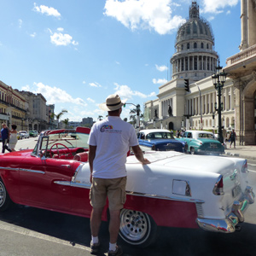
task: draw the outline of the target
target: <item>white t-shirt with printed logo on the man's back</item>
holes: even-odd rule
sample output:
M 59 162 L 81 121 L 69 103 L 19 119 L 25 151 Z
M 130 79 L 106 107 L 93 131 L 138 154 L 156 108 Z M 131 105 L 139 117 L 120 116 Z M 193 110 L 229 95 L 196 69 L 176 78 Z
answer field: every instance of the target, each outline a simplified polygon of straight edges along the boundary
M 116 116 L 108 116 L 94 124 L 88 140 L 96 146 L 93 161 L 93 177 L 125 177 L 125 162 L 130 147 L 137 146 L 137 134 L 133 126 Z

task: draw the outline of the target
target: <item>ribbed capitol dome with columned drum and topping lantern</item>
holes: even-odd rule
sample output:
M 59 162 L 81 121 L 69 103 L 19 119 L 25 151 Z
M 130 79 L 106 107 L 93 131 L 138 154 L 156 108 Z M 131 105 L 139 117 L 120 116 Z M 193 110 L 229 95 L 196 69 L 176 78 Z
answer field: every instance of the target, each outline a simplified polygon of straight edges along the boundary
M 176 53 L 170 60 L 172 79 L 205 79 L 215 72 L 218 54 L 214 48 L 212 28 L 199 15 L 199 6 L 193 1 L 189 8 L 189 20 L 177 31 Z M 190 84 L 190 83 L 189 83 Z

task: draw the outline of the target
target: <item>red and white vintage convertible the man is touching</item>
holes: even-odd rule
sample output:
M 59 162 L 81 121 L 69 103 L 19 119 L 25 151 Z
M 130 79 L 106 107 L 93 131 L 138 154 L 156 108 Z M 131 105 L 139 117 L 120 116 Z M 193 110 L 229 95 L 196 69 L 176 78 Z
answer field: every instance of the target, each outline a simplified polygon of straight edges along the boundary
M 0 154 L 0 210 L 13 201 L 90 218 L 89 132 L 45 131 L 34 149 Z M 254 202 L 247 160 L 175 151 L 148 151 L 146 158 L 151 164 L 134 155 L 126 162 L 119 235 L 130 245 L 148 246 L 160 226 L 235 232 Z

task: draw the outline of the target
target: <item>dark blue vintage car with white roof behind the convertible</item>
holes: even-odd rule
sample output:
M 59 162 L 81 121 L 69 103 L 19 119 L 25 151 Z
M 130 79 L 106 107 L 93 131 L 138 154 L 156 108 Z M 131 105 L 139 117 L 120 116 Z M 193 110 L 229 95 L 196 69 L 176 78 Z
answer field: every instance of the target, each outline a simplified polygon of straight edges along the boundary
M 140 147 L 143 151 L 186 151 L 186 143 L 177 141 L 171 131 L 164 129 L 148 129 L 137 133 Z

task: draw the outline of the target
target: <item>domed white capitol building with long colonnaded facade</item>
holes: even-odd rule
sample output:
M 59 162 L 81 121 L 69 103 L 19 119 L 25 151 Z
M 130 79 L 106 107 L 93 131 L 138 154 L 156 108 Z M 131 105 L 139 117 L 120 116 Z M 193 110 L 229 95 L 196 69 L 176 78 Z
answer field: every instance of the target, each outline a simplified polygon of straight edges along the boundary
M 214 36 L 207 20 L 200 16 L 196 2 L 189 8 L 189 20 L 177 31 L 176 52 L 170 60 L 172 80 L 159 87 L 158 99 L 145 102 L 144 124 L 148 128 L 179 130 L 217 130 L 217 90 L 212 84 L 218 54 Z M 185 80 L 189 80 L 189 91 Z M 225 129 L 235 127 L 235 92 L 231 79 L 222 91 L 222 122 Z

